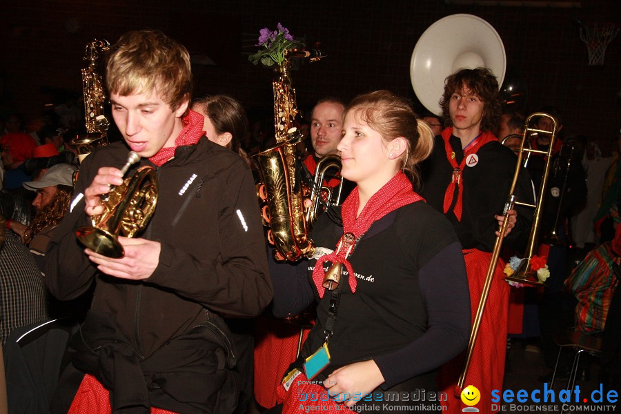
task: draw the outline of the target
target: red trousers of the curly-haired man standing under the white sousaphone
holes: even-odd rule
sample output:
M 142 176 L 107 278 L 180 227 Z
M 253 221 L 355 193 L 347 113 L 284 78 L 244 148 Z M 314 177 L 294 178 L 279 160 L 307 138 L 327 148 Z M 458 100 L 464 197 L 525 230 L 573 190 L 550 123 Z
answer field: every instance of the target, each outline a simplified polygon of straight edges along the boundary
M 480 250 L 464 250 L 468 284 L 470 286 L 470 303 L 474 320 L 483 291 L 491 253 Z M 491 410 L 491 392 L 502 392 L 504 378 L 504 357 L 506 356 L 507 313 L 509 308 L 509 284 L 504 281 L 504 262 L 498 260 L 489 290 L 489 297 L 483 311 L 479 333 L 475 342 L 464 388 L 475 386 L 481 395 L 475 408 L 480 413 L 493 413 Z M 442 366 L 438 372 L 438 388 L 448 395 L 445 411 L 462 413 L 466 405 L 460 397 L 454 396 L 462 368 L 465 352 Z

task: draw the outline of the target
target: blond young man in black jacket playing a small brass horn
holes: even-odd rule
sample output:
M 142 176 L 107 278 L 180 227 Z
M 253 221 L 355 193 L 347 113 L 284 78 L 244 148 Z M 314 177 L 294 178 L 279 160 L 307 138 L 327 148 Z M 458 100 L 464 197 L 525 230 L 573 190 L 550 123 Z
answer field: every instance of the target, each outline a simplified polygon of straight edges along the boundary
M 257 315 L 272 295 L 253 177 L 239 156 L 203 136 L 203 117 L 188 110 L 186 48 L 161 32 L 129 32 L 106 72 L 124 142 L 83 161 L 77 197 L 48 249 L 46 284 L 57 298 L 95 283 L 55 411 L 230 413 L 235 352 L 219 313 Z M 101 195 L 123 184 L 129 150 L 157 171 L 157 208 L 139 237 L 118 237 L 125 255 L 112 259 L 80 246 L 75 230 L 103 213 Z

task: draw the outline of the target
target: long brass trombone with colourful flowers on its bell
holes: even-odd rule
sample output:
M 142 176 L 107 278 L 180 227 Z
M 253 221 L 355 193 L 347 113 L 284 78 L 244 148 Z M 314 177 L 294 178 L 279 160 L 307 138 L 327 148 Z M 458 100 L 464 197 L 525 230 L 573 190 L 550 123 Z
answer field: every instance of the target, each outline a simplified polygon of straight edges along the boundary
M 551 131 L 540 130 L 537 128 L 531 128 L 531 120 L 535 118 L 545 117 L 551 119 L 553 128 Z M 522 263 L 520 264 L 520 268 L 518 268 L 515 273 L 511 277 L 505 277 L 506 280 L 511 280 L 513 282 L 518 282 L 520 284 L 526 284 L 530 286 L 540 285 L 537 275 L 535 271 L 531 270 L 531 257 L 533 257 L 533 253 L 535 253 L 535 247 L 537 244 L 537 239 L 539 235 L 540 228 L 540 219 L 542 213 L 542 201 L 544 199 L 544 195 L 546 193 L 546 186 L 548 181 L 548 175 L 550 170 L 550 159 L 552 155 L 552 149 L 554 148 L 554 140 L 556 138 L 557 131 L 557 121 L 556 119 L 548 115 L 544 112 L 535 112 L 534 114 L 529 115 L 524 121 L 524 132 L 522 133 L 522 143 L 520 144 L 520 152 L 517 153 L 517 164 L 515 166 L 515 173 L 513 174 L 513 181 L 511 182 L 511 190 L 509 191 L 509 197 L 507 197 L 506 203 L 504 204 L 504 220 L 502 221 L 502 226 L 500 226 L 500 236 L 496 237 L 496 241 L 494 243 L 494 248 L 492 250 L 491 260 L 489 262 L 489 267 L 487 268 L 487 274 L 485 276 L 485 283 L 483 285 L 483 291 L 481 293 L 481 299 L 479 300 L 479 306 L 477 307 L 477 313 L 475 314 L 475 318 L 473 320 L 472 331 L 470 333 L 470 339 L 468 341 L 468 348 L 466 350 L 466 359 L 464 361 L 464 367 L 462 368 L 462 373 L 457 380 L 457 387 L 455 388 L 455 396 L 459 397 L 462 393 L 462 389 L 464 387 L 464 382 L 466 381 L 466 374 L 468 373 L 468 368 L 470 366 L 470 361 L 472 359 L 472 353 L 474 350 L 475 342 L 477 340 L 477 335 L 479 333 L 479 328 L 481 326 L 481 319 L 483 317 L 483 311 L 485 308 L 485 304 L 487 302 L 487 298 L 489 297 L 489 290 L 491 288 L 491 283 L 493 280 L 493 275 L 495 273 L 496 264 L 498 262 L 498 257 L 500 256 L 500 249 L 502 248 L 502 242 L 504 240 L 504 232 L 509 224 L 509 215 L 506 214 L 508 210 L 513 209 L 514 206 L 524 206 L 535 208 L 534 218 L 533 218 L 533 226 L 531 227 L 531 234 L 529 235 L 529 242 L 526 246 L 526 253 L 524 254 L 524 259 L 522 259 Z M 535 150 L 528 144 L 531 148 L 524 148 L 526 141 L 533 134 L 544 134 L 550 136 L 550 146 L 547 151 Z M 544 175 L 541 180 L 541 186 L 539 189 L 538 200 L 535 201 L 535 204 L 523 203 L 517 200 L 517 195 L 515 195 L 515 187 L 517 186 L 517 178 L 520 176 L 520 170 L 522 169 L 522 157 L 526 154 L 530 155 L 531 152 L 535 154 L 546 155 L 546 166 L 544 168 Z

